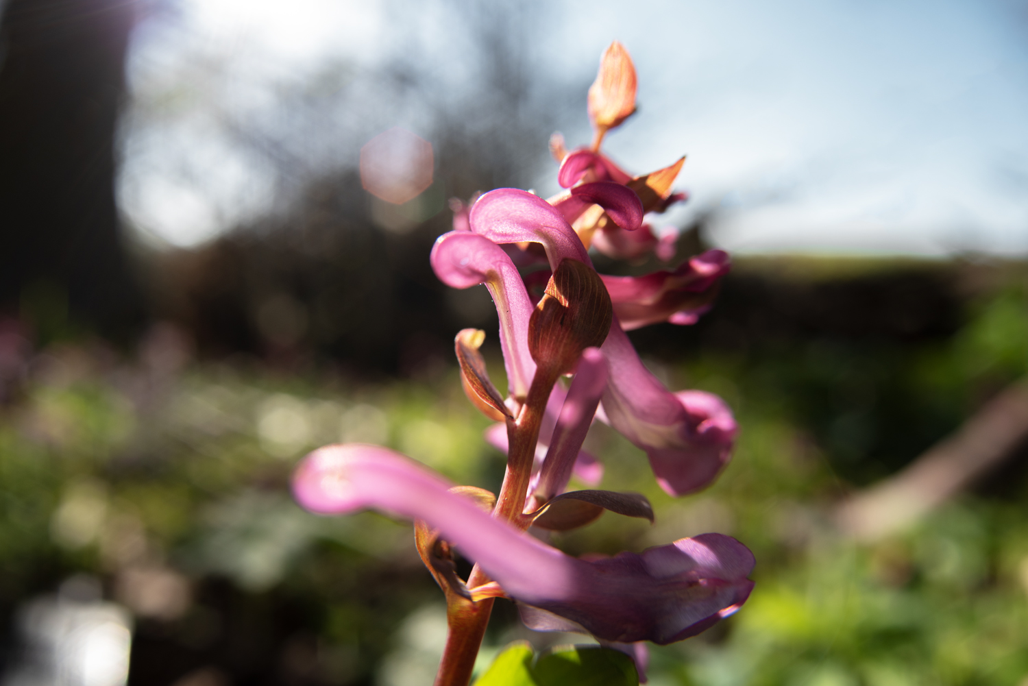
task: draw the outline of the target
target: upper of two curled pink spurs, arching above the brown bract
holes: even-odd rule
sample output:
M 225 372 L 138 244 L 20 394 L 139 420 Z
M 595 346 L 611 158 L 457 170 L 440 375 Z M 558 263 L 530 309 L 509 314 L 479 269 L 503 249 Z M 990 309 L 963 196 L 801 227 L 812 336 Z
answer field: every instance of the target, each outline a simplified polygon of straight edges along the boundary
M 552 269 L 565 257 L 592 265 L 585 246 L 560 212 L 524 190 L 490 190 L 472 206 L 470 221 L 471 230 L 493 243 L 542 243 Z

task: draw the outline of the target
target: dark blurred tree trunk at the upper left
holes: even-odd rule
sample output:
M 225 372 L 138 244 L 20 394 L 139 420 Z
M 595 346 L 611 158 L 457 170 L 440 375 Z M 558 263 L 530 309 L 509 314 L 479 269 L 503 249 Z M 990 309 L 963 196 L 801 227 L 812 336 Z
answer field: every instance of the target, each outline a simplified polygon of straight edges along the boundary
M 73 322 L 118 335 L 143 319 L 114 205 L 114 131 L 135 13 L 133 0 L 4 7 L 0 309 L 37 328 Z

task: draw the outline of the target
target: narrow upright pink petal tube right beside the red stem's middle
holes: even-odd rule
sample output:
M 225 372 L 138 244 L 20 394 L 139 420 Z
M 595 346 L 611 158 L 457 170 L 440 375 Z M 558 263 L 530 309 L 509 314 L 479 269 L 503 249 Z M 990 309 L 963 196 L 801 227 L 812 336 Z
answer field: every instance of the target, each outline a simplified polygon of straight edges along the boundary
M 550 448 L 543 461 L 535 495 L 540 505 L 563 493 L 571 478 L 582 442 L 596 414 L 599 397 L 607 388 L 607 361 L 597 348 L 582 353 L 575 381 L 560 408 L 550 438 Z

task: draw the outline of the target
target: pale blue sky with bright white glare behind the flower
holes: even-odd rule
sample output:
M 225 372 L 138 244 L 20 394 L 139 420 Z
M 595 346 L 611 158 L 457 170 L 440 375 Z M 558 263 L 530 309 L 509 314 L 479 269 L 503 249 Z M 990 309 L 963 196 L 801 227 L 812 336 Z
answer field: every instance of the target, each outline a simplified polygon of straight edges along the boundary
M 631 52 L 639 112 L 607 147 L 640 173 L 688 154 L 681 182 L 692 201 L 668 221 L 715 209 L 712 237 L 736 252 L 1028 254 L 1028 6 L 999 0 L 540 6 L 548 13 L 531 17 L 531 48 L 541 68 L 589 73 L 615 38 Z M 133 83 L 141 93 L 161 79 L 167 87 L 182 77 L 176 65 L 212 50 L 251 76 L 301 73 L 328 59 L 373 64 L 398 49 L 387 19 L 398 10 L 423 13 L 417 49 L 426 60 L 460 63 L 467 43 L 445 0 L 409 6 L 296 0 L 284 8 L 271 0 L 185 2 L 176 32 L 144 27 L 137 37 Z M 210 97 L 222 110 L 238 107 L 262 97 L 261 82 L 252 79 L 249 91 L 235 86 L 234 96 L 212 85 Z M 584 92 L 568 97 L 584 106 Z M 261 212 L 266 196 L 261 171 L 232 163 L 203 119 L 194 112 L 169 120 L 149 144 L 141 143 L 145 134 L 128 135 L 126 212 L 173 244 L 195 244 L 238 216 Z M 570 143 L 586 142 L 584 111 L 561 129 Z M 199 158 L 219 160 L 224 178 L 207 180 L 200 190 L 171 179 L 152 141 L 172 138 Z M 537 187 L 551 185 L 542 178 Z

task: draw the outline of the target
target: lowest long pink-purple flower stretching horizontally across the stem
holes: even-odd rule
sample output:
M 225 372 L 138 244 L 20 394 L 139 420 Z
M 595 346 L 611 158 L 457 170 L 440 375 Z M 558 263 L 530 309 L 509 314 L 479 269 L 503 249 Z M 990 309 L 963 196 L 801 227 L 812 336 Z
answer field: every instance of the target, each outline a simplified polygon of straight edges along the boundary
M 752 554 L 728 536 L 586 562 L 494 519 L 448 486 L 412 460 L 360 444 L 315 450 L 293 477 L 297 500 L 317 512 L 375 508 L 424 519 L 514 600 L 607 641 L 678 641 L 735 612 L 752 588 Z

